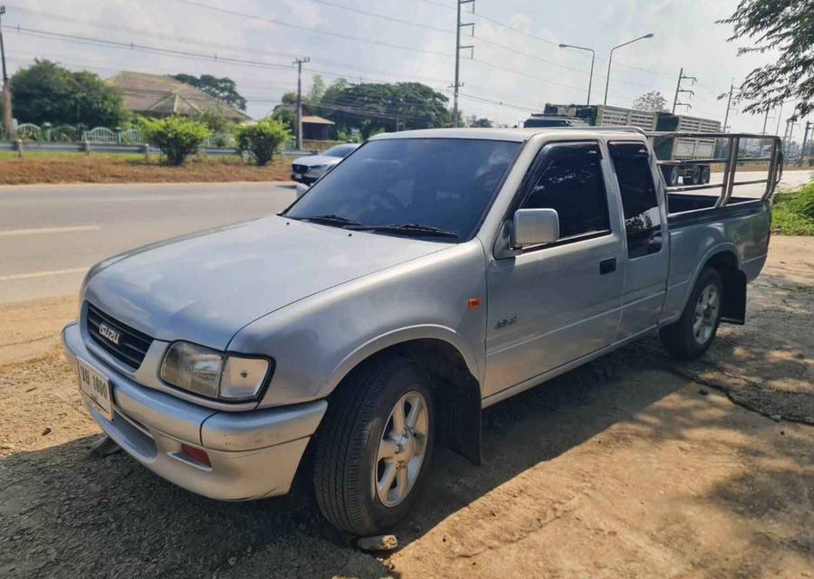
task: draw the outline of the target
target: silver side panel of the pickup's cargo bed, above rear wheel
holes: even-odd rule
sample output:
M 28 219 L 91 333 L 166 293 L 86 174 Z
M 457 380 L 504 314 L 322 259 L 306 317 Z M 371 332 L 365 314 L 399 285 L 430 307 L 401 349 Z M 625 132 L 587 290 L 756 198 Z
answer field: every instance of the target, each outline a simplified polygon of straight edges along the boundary
M 752 281 L 769 252 L 771 205 L 751 202 L 667 218 L 670 270 L 661 324 L 681 316 L 704 264 L 715 254 L 732 252 L 738 268 Z

